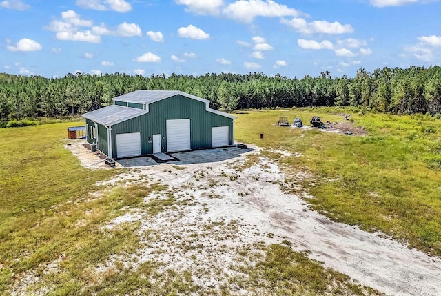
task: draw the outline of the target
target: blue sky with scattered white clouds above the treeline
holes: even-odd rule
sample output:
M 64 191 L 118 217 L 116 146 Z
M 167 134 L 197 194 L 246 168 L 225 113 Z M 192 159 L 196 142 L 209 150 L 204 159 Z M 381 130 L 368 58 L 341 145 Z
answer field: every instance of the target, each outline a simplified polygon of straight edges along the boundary
M 0 0 L 0 72 L 280 73 L 441 63 L 438 0 Z

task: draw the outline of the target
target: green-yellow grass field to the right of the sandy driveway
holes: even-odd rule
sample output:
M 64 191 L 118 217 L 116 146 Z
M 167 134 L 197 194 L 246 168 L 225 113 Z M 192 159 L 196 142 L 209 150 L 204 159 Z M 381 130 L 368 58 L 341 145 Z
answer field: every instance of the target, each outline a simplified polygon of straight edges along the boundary
M 343 121 L 347 110 L 336 108 L 242 112 L 235 126 L 237 141 L 301 153 L 283 157 L 287 182 L 307 170 L 302 181 L 316 197 L 309 202 L 336 221 L 381 230 L 431 255 L 441 255 L 441 120 L 425 115 L 353 114 L 365 136 L 338 135 L 274 125 L 279 116 L 313 115 Z M 260 139 L 260 133 L 265 139 Z

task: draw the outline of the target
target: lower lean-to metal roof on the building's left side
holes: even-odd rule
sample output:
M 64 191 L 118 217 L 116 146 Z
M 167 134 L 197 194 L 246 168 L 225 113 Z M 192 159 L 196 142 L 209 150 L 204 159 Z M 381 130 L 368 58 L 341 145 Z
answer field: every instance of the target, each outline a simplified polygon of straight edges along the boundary
M 147 112 L 147 110 L 111 105 L 85 113 L 83 114 L 83 117 L 98 124 L 102 124 L 103 126 L 112 126 L 114 124 L 119 124 L 122 121 L 146 114 Z

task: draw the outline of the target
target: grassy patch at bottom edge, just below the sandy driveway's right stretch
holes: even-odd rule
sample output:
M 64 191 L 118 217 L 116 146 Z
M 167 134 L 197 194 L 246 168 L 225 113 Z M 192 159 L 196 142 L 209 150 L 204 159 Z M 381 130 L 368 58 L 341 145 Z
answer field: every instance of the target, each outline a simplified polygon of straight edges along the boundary
M 287 246 L 273 244 L 260 248 L 265 252 L 264 259 L 253 266 L 239 267 L 248 277 L 232 280 L 253 294 L 270 290 L 271 295 L 380 295 Z

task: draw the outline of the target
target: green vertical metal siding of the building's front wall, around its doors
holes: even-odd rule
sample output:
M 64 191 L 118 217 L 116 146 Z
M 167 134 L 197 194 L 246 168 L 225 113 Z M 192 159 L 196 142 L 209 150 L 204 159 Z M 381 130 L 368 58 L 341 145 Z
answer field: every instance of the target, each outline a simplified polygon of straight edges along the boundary
M 233 119 L 205 110 L 205 103 L 176 95 L 150 104 L 149 113 L 112 126 L 112 157 L 116 157 L 116 134 L 141 132 L 141 154 L 153 152 L 152 137 L 161 134 L 163 152 L 166 147 L 167 119 L 190 119 L 192 150 L 212 148 L 212 128 L 229 126 L 229 145 L 233 144 Z M 150 143 L 149 143 L 149 137 Z

